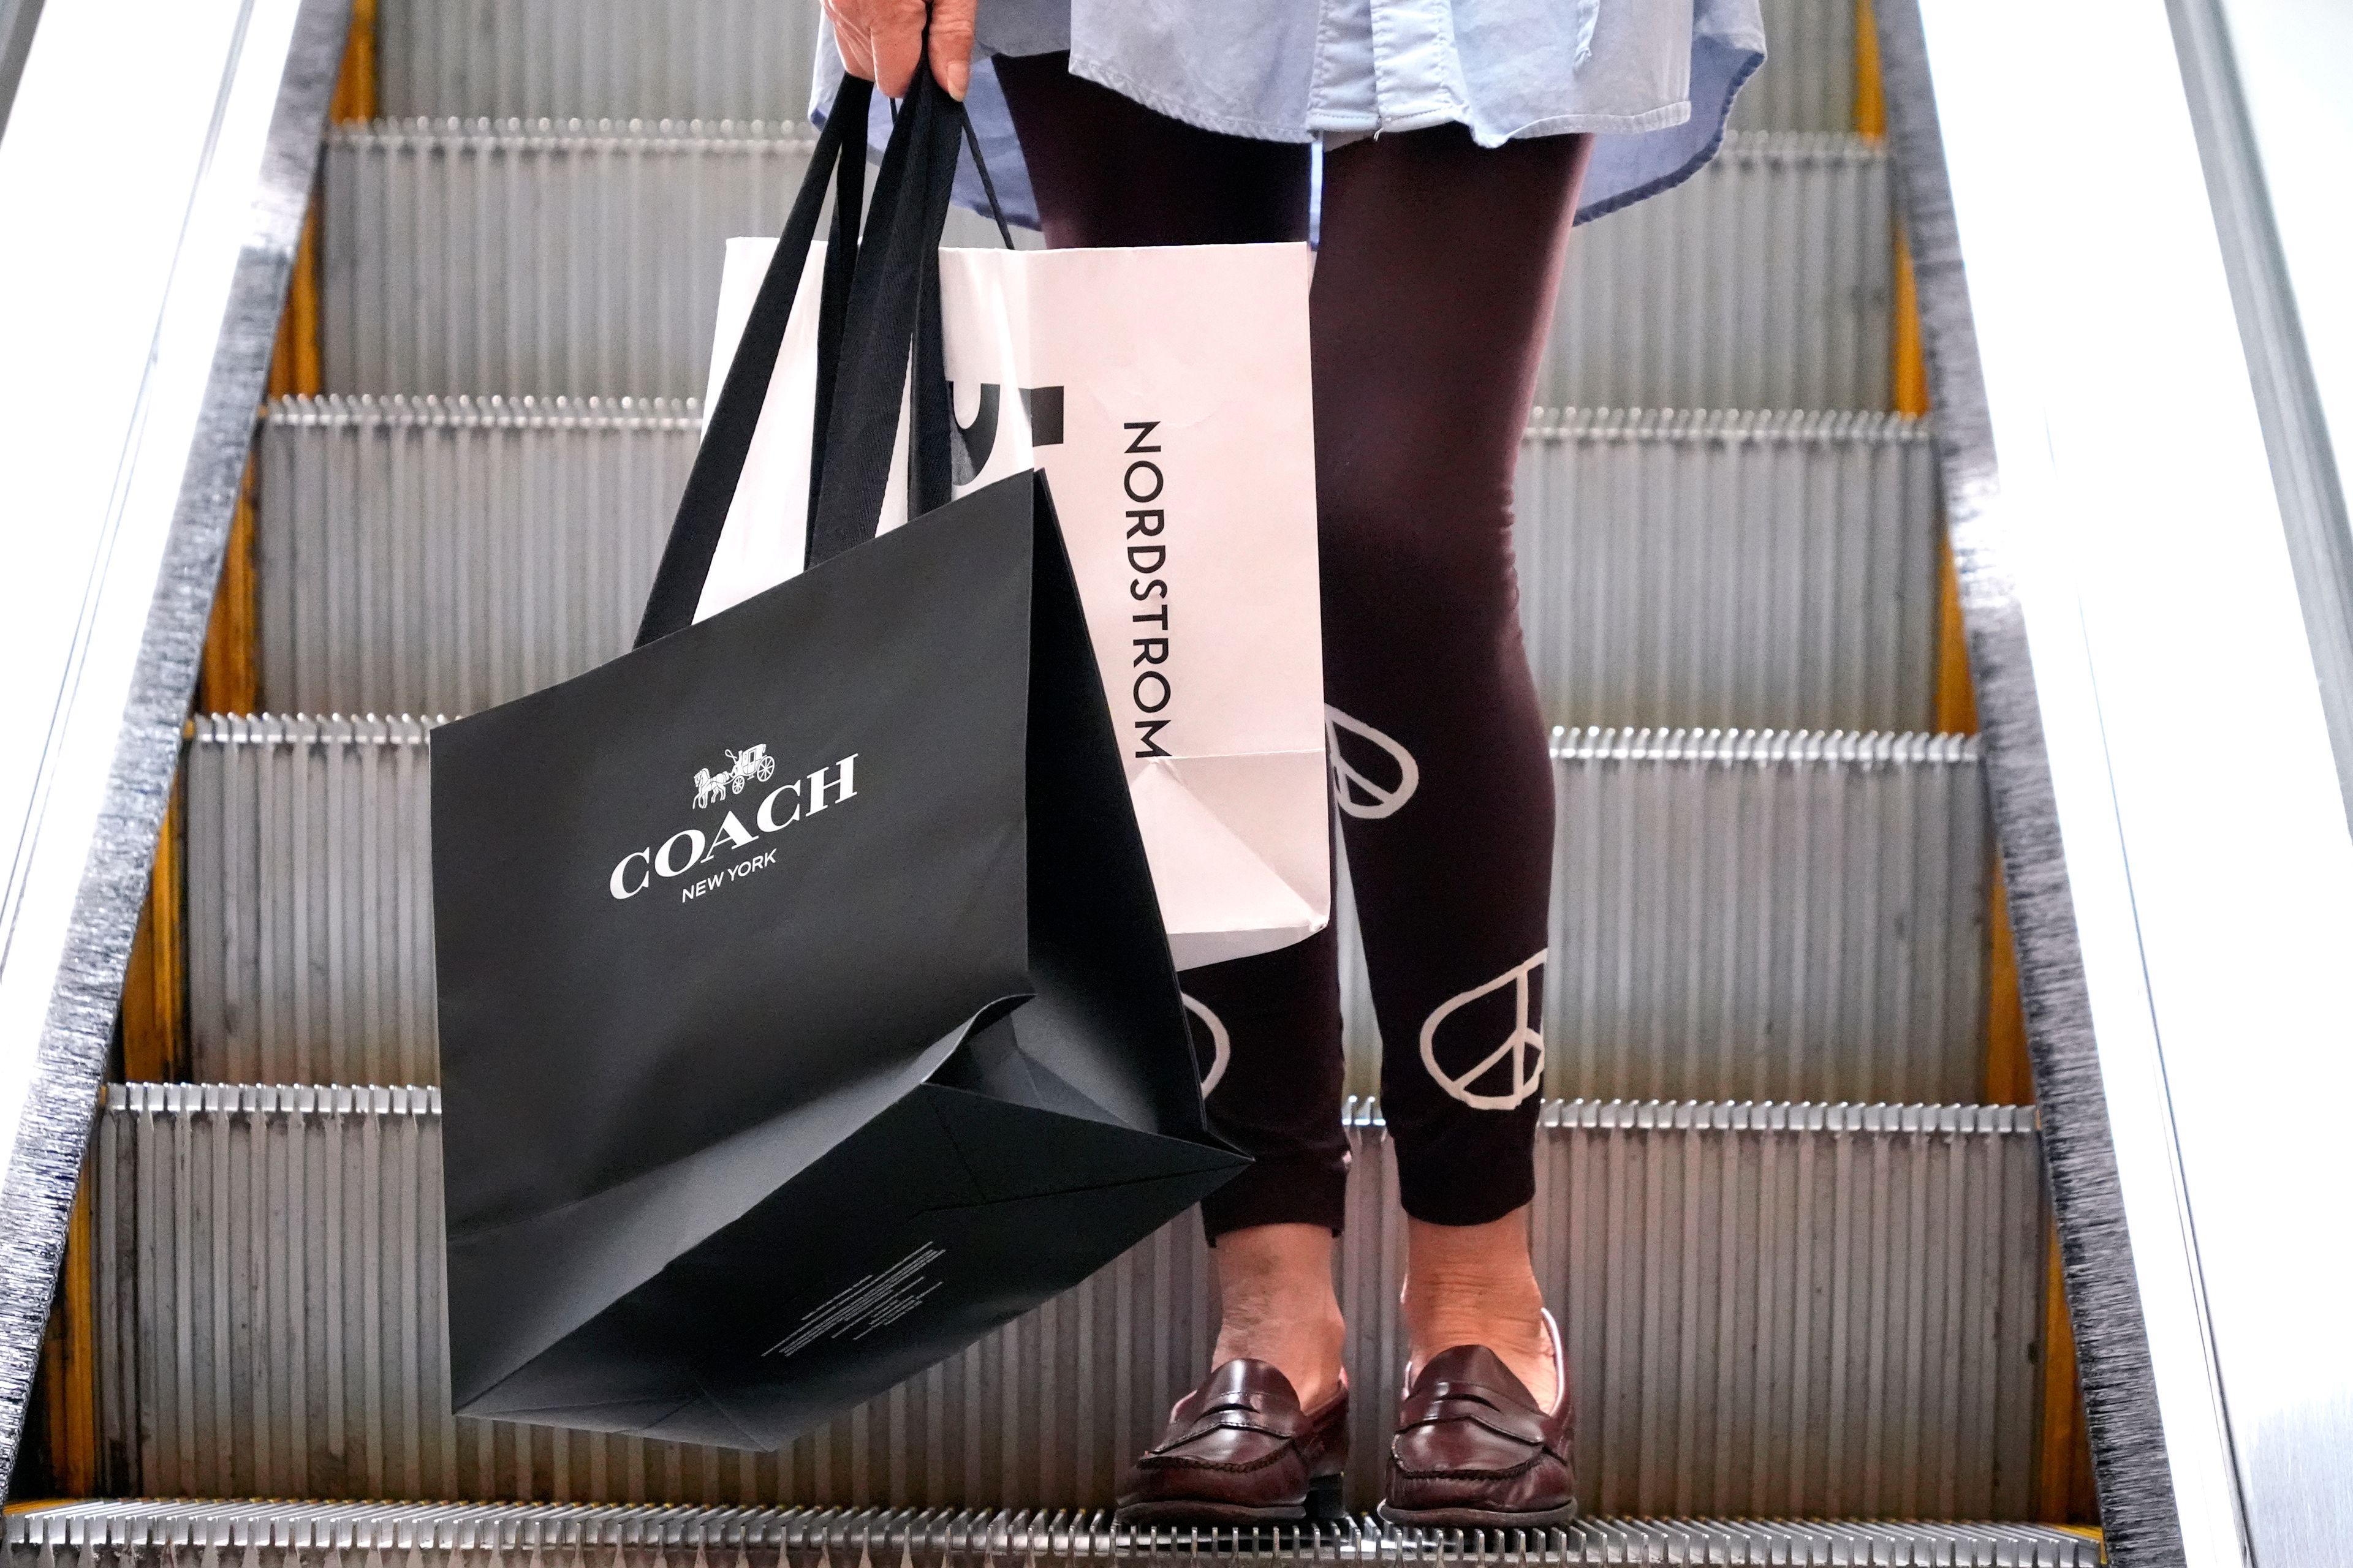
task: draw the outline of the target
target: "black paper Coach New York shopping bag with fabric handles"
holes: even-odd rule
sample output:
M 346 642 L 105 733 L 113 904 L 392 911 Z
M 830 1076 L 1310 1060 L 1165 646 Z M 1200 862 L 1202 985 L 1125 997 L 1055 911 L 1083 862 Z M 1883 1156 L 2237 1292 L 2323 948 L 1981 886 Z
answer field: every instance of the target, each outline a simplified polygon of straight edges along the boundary
M 920 339 L 962 110 L 918 75 L 864 244 L 864 94 L 826 127 L 647 639 L 433 733 L 468 1415 L 779 1446 L 1242 1164 L 1042 477 L 871 538 L 911 348 L 918 496 L 948 494 Z M 824 564 L 685 625 L 835 165 Z

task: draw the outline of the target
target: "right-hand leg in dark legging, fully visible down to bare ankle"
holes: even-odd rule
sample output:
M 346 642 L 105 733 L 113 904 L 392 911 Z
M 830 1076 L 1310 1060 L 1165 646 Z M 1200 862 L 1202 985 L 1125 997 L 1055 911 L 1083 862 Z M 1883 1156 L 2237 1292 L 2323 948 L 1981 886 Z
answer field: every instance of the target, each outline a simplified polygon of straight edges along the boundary
M 1412 1356 L 1487 1345 L 1546 1406 L 1527 1201 L 1553 773 L 1511 494 L 1588 155 L 1461 127 L 1339 148 L 1313 294 L 1325 686 Z

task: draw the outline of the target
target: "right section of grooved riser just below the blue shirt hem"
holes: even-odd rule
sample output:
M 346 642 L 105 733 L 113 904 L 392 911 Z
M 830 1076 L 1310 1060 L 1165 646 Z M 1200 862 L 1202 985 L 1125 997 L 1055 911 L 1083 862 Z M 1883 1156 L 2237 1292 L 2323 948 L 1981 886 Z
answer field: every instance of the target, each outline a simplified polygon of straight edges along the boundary
M 1537 402 L 1885 409 L 1892 320 L 1887 150 L 1732 134 L 1687 183 L 1577 228 Z

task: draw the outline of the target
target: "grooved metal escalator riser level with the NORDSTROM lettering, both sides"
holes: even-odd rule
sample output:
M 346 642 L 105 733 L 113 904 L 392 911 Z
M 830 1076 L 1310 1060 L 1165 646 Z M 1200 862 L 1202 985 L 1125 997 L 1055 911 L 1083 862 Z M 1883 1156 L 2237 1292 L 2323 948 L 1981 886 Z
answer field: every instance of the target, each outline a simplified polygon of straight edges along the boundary
M 296 397 L 261 428 L 261 701 L 475 712 L 628 649 L 692 400 Z M 1927 729 L 1937 451 L 1889 414 L 1539 411 L 1520 618 L 1553 724 Z

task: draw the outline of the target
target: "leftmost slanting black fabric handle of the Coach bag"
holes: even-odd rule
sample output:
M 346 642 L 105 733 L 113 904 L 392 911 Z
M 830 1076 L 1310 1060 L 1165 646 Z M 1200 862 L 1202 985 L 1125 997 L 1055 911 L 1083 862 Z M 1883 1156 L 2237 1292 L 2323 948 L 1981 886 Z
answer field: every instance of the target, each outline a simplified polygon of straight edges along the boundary
M 784 353 L 784 329 L 793 315 L 793 296 L 800 294 L 800 275 L 809 266 L 809 244 L 816 240 L 816 219 L 826 205 L 826 181 L 838 174 L 833 235 L 826 247 L 826 301 L 819 308 L 816 329 L 816 444 L 809 465 L 814 503 L 816 463 L 824 458 L 826 411 L 833 390 L 831 371 L 840 364 L 842 324 L 856 266 L 859 195 L 866 183 L 866 108 L 871 101 L 873 82 L 854 75 L 842 78 L 833 113 L 809 155 L 809 172 L 800 181 L 800 195 L 793 197 L 793 212 L 776 237 L 776 254 L 767 263 L 760 294 L 744 322 L 744 336 L 727 367 L 727 381 L 720 386 L 718 407 L 711 409 L 711 425 L 694 454 L 687 489 L 678 498 L 678 520 L 671 524 L 661 567 L 654 571 L 654 588 L 645 597 L 645 616 L 638 621 L 635 646 L 640 649 L 694 623 L 704 578 L 711 576 L 711 557 L 727 527 L 727 508 L 744 477 L 744 458 L 760 428 L 760 407 L 776 376 L 776 355 Z

